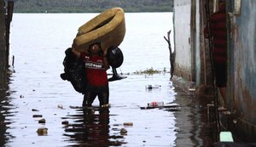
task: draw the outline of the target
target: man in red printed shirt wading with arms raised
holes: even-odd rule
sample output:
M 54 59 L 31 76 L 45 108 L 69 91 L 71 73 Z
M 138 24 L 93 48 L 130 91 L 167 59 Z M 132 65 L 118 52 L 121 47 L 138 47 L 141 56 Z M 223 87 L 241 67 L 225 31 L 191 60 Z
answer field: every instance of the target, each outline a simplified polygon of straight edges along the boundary
M 88 53 L 80 53 L 72 48 L 73 54 L 84 60 L 87 75 L 86 92 L 84 93 L 83 107 L 90 107 L 98 97 L 101 107 L 108 107 L 109 88 L 108 75 L 109 68 L 107 48 L 102 49 L 101 43 L 96 42 L 90 45 Z

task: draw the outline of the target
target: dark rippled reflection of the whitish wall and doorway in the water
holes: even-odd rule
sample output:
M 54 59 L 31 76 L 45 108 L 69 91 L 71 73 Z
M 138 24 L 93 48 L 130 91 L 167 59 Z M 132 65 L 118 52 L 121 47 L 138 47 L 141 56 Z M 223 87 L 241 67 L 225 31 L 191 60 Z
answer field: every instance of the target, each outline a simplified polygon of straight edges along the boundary
M 175 88 L 177 99 L 174 102 L 181 106 L 176 111 L 177 146 L 212 146 L 217 141 L 216 125 L 209 122 L 207 117 L 207 103 L 211 99 L 196 97 Z

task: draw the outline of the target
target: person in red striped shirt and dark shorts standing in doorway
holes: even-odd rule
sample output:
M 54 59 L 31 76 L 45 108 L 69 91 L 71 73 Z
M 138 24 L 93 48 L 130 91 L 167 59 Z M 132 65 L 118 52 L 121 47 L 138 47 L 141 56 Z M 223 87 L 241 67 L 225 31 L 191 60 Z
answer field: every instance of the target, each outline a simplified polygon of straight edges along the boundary
M 227 82 L 227 28 L 226 28 L 226 5 L 224 0 L 218 1 L 218 11 L 210 16 L 210 29 L 212 35 L 212 56 L 215 71 L 216 86 L 223 98 L 224 105 L 220 110 L 225 110 L 226 82 Z M 209 33 L 205 28 L 205 37 Z

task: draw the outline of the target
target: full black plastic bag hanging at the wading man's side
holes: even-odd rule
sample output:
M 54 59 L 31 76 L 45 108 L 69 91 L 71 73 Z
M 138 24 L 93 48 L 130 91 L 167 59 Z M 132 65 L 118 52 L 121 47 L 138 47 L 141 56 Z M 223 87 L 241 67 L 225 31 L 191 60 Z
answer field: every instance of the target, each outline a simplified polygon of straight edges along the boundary
M 67 48 L 65 54 L 64 73 L 61 73 L 61 79 L 71 82 L 77 92 L 85 93 L 87 79 L 83 60 L 73 54 L 72 48 Z

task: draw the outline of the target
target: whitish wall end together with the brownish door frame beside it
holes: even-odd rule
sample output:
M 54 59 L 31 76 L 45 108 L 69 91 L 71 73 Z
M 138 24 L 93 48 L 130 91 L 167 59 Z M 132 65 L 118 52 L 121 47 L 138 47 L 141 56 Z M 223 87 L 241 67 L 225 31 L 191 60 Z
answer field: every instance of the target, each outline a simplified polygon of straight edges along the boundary
M 206 81 L 201 0 L 174 0 L 175 75 L 196 86 Z

